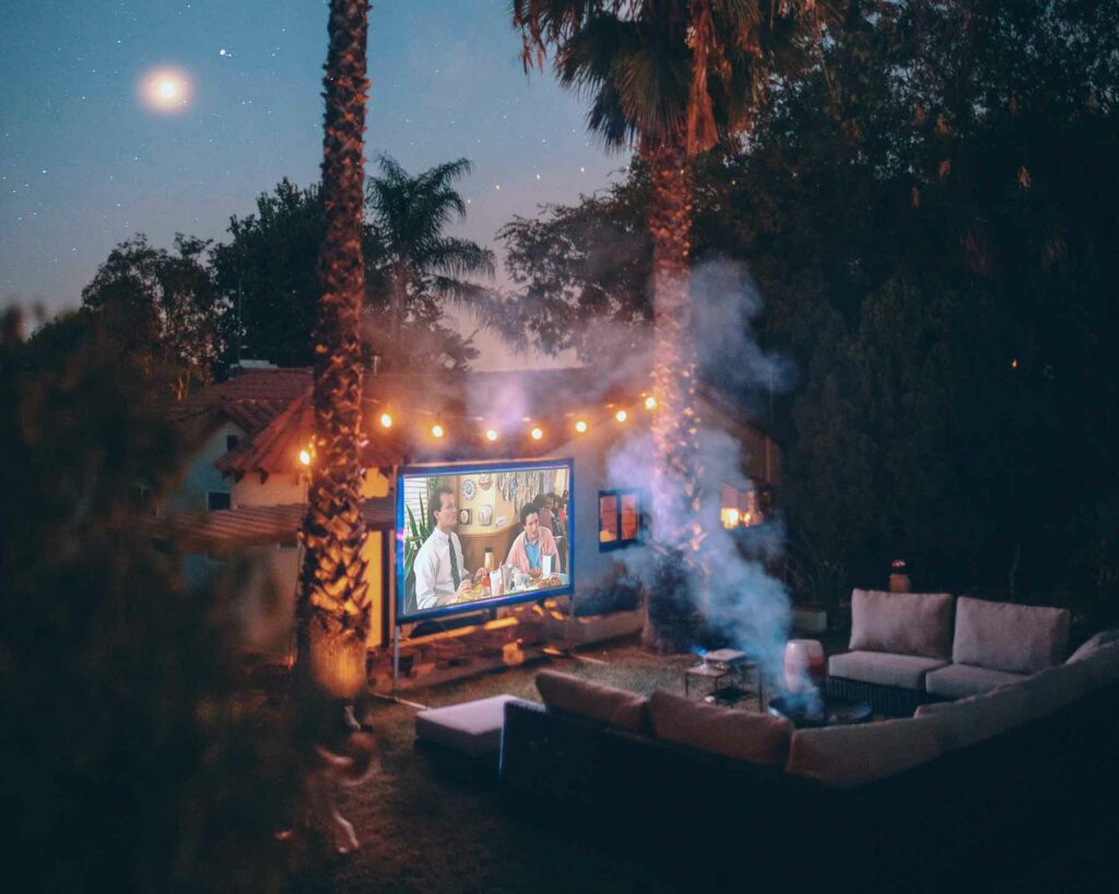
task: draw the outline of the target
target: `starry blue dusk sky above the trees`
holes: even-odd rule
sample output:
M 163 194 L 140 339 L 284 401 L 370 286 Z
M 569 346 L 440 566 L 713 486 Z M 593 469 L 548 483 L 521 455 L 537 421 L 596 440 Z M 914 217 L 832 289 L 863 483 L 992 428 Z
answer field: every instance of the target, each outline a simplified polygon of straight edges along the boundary
M 222 240 L 281 178 L 318 180 L 326 22 L 325 0 L 4 2 L 0 304 L 75 306 L 132 235 Z M 575 201 L 627 161 L 586 135 L 551 72 L 524 74 L 519 49 L 507 0 L 370 12 L 366 158 L 412 173 L 470 159 L 454 232 L 492 247 L 513 215 Z M 166 69 L 170 112 L 143 94 Z

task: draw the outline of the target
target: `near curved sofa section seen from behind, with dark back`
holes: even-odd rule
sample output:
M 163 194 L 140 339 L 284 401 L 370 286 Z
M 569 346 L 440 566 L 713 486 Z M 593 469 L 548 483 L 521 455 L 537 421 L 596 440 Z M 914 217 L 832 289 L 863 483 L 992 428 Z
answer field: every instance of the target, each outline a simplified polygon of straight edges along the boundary
M 976 890 L 1093 834 L 1119 797 L 1119 643 L 918 715 L 777 717 L 543 672 L 506 704 L 509 809 L 681 888 Z

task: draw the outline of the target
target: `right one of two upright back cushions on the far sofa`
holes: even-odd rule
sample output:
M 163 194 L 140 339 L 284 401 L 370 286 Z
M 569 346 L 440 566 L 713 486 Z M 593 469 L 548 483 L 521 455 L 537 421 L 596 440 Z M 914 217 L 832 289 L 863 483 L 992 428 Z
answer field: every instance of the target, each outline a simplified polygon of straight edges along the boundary
M 1064 660 L 1069 612 L 960 597 L 952 660 L 1010 674 L 1035 674 Z

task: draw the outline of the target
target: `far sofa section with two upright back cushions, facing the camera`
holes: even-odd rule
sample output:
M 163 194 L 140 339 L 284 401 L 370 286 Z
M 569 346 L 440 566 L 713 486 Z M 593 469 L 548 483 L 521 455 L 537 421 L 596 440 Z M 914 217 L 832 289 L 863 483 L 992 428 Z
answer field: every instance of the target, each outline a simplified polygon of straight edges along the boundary
M 828 660 L 828 692 L 906 716 L 1064 660 L 1069 612 L 949 593 L 852 593 L 849 652 Z

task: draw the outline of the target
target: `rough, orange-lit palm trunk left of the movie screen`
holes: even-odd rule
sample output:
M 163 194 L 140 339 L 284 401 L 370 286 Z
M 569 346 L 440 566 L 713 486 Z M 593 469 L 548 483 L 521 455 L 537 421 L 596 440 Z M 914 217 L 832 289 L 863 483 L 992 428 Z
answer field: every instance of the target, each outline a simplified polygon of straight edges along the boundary
M 297 683 L 337 697 L 365 685 L 369 629 L 361 521 L 360 312 L 365 293 L 361 208 L 367 0 L 331 0 L 325 98 L 319 251 L 322 296 L 314 326 L 314 457 L 303 520 L 297 605 Z M 304 689 L 308 692 L 308 689 Z

